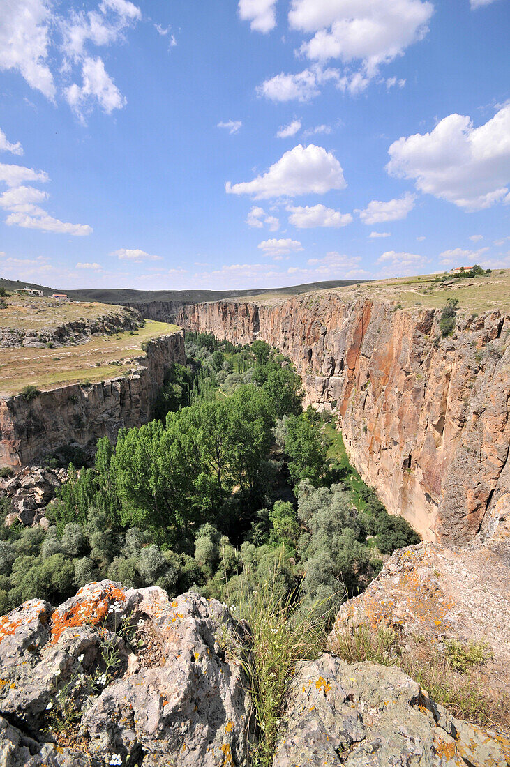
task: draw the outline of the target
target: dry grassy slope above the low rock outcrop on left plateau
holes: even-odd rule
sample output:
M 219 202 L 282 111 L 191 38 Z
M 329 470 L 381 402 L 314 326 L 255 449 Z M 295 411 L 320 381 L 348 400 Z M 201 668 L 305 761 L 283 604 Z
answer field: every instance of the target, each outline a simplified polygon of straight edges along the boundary
M 55 301 L 51 298 L 31 298 L 13 293 L 4 298 L 6 308 L 0 309 L 0 328 L 49 331 L 66 322 L 92 321 L 114 314 L 127 314 L 120 306 L 111 304 Z

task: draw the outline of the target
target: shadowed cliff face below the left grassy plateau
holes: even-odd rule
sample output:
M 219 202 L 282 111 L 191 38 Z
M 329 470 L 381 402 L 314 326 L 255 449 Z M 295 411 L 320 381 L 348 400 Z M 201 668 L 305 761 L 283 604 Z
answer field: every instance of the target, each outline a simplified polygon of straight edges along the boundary
M 66 443 L 91 450 L 102 436 L 114 439 L 124 426 L 146 423 L 166 370 L 185 361 L 183 334 L 176 333 L 150 341 L 136 374 L 59 387 L 29 401 L 0 399 L 0 465 L 35 463 Z

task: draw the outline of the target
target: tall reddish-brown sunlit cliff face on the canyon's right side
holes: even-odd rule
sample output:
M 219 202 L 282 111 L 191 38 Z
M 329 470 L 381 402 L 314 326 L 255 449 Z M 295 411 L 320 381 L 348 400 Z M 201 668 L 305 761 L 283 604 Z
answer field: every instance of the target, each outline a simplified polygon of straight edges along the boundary
M 335 294 L 181 308 L 179 324 L 288 354 L 334 403 L 351 462 L 426 540 L 466 544 L 510 506 L 510 316 L 459 318 Z

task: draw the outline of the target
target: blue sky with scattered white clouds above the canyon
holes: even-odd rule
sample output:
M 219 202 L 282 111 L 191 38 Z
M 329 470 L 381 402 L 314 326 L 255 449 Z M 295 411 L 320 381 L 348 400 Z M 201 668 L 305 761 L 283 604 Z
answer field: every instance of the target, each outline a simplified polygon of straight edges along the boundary
M 0 276 L 510 268 L 509 0 L 0 0 Z

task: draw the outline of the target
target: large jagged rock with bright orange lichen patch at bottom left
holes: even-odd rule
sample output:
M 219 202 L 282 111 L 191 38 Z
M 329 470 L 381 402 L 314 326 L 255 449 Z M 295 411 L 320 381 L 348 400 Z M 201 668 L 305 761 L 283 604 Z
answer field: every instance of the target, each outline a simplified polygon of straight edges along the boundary
M 25 603 L 0 619 L 0 764 L 244 764 L 240 649 L 198 594 L 101 581 Z

